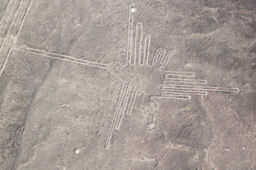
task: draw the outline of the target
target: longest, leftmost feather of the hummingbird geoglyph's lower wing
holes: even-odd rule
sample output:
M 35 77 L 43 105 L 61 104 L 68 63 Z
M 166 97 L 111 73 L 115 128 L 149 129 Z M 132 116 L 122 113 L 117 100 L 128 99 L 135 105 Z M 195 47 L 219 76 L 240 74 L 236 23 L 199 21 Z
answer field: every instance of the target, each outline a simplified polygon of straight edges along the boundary
M 116 121 L 116 117 L 117 117 L 117 112 L 118 112 L 118 108 L 120 106 L 120 103 L 121 103 L 121 100 L 122 100 L 122 96 L 123 96 L 123 93 L 124 93 L 124 88 L 125 88 L 126 84 L 122 84 L 122 89 L 121 89 L 121 92 L 120 92 L 120 96 L 119 96 L 119 100 L 117 102 L 117 108 L 116 110 L 114 111 L 114 116 L 113 116 L 113 119 L 112 119 L 112 123 L 110 125 L 110 131 L 108 132 L 107 134 L 107 140 L 105 142 L 105 148 L 108 149 L 109 145 L 110 145 L 110 140 L 112 138 L 112 134 L 113 134 L 113 130 L 114 130 L 114 123 Z

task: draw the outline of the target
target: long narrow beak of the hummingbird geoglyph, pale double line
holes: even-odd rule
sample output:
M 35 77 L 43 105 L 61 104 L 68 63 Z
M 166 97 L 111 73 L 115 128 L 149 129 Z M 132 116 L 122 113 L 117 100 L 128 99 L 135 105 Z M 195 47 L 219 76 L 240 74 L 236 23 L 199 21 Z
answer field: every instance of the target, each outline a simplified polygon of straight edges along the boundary
M 71 56 L 68 56 L 68 55 L 60 55 L 60 54 L 57 54 L 57 53 L 54 53 L 54 52 L 47 52 L 47 51 L 44 51 L 44 50 L 37 50 L 37 49 L 33 49 L 31 47 L 23 47 L 23 46 L 20 46 L 20 45 L 14 45 L 13 49 L 21 50 L 21 51 L 24 51 L 24 52 L 31 52 L 31 53 L 36 54 L 36 55 L 42 55 L 44 57 L 55 58 L 55 59 L 58 59 L 58 60 L 64 60 L 64 61 L 68 61 L 68 62 L 75 62 L 75 63 L 85 64 L 85 65 L 90 65 L 92 67 L 99 67 L 99 68 L 102 68 L 102 69 L 107 69 L 107 64 L 102 64 L 102 63 L 99 63 L 99 62 L 92 62 L 90 60 L 79 59 L 79 58 L 71 57 Z

